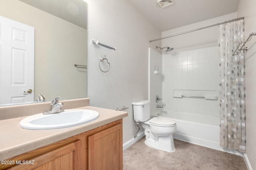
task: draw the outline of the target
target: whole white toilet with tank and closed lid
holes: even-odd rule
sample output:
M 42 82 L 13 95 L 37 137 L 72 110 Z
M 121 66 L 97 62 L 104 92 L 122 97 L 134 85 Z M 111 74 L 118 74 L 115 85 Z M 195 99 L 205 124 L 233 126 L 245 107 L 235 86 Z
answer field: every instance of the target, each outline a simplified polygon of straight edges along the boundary
M 174 141 L 172 134 L 176 132 L 176 122 L 164 117 L 153 117 L 150 119 L 150 101 L 141 100 L 133 102 L 133 115 L 136 122 L 143 122 L 145 129 L 145 144 L 149 147 L 174 152 Z

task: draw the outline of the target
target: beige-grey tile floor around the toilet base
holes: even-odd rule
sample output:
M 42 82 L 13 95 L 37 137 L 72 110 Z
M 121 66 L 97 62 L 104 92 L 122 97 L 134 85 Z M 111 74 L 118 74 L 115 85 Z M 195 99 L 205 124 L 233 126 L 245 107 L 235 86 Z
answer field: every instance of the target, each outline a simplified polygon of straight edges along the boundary
M 244 158 L 174 139 L 175 152 L 144 144 L 145 137 L 123 152 L 124 170 L 247 170 Z

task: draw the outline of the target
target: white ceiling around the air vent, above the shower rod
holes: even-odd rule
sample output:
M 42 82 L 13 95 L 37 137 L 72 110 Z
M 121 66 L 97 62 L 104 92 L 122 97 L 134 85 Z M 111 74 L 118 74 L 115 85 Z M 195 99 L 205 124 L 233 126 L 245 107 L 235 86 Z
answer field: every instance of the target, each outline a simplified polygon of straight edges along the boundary
M 156 0 L 130 0 L 159 31 L 236 12 L 240 0 L 173 1 L 174 4 L 161 8 Z

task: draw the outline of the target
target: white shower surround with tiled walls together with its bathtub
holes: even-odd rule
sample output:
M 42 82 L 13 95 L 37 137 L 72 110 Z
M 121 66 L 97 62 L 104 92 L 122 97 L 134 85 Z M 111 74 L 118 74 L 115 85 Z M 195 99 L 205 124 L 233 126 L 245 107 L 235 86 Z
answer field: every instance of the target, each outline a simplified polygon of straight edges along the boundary
M 241 155 L 220 147 L 217 56 L 216 46 L 163 55 L 149 48 L 150 111 L 176 122 L 174 139 Z M 154 102 L 156 95 L 163 100 Z

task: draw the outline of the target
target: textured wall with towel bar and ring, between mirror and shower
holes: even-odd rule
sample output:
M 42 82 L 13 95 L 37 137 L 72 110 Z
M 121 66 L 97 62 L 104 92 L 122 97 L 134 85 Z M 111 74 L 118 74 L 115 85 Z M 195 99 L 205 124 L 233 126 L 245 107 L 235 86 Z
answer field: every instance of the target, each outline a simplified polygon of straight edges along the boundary
M 155 48 L 161 43 L 149 43 L 149 40 L 161 37 L 161 32 L 129 0 L 86 2 L 90 105 L 108 109 L 129 107 L 125 110 L 128 117 L 123 119 L 123 143 L 126 143 L 138 130 L 132 102 L 148 100 L 148 47 Z M 116 51 L 95 45 L 92 39 L 116 47 Z M 104 55 L 110 63 L 106 73 L 99 69 L 99 59 Z M 140 129 L 139 134 L 143 131 Z

